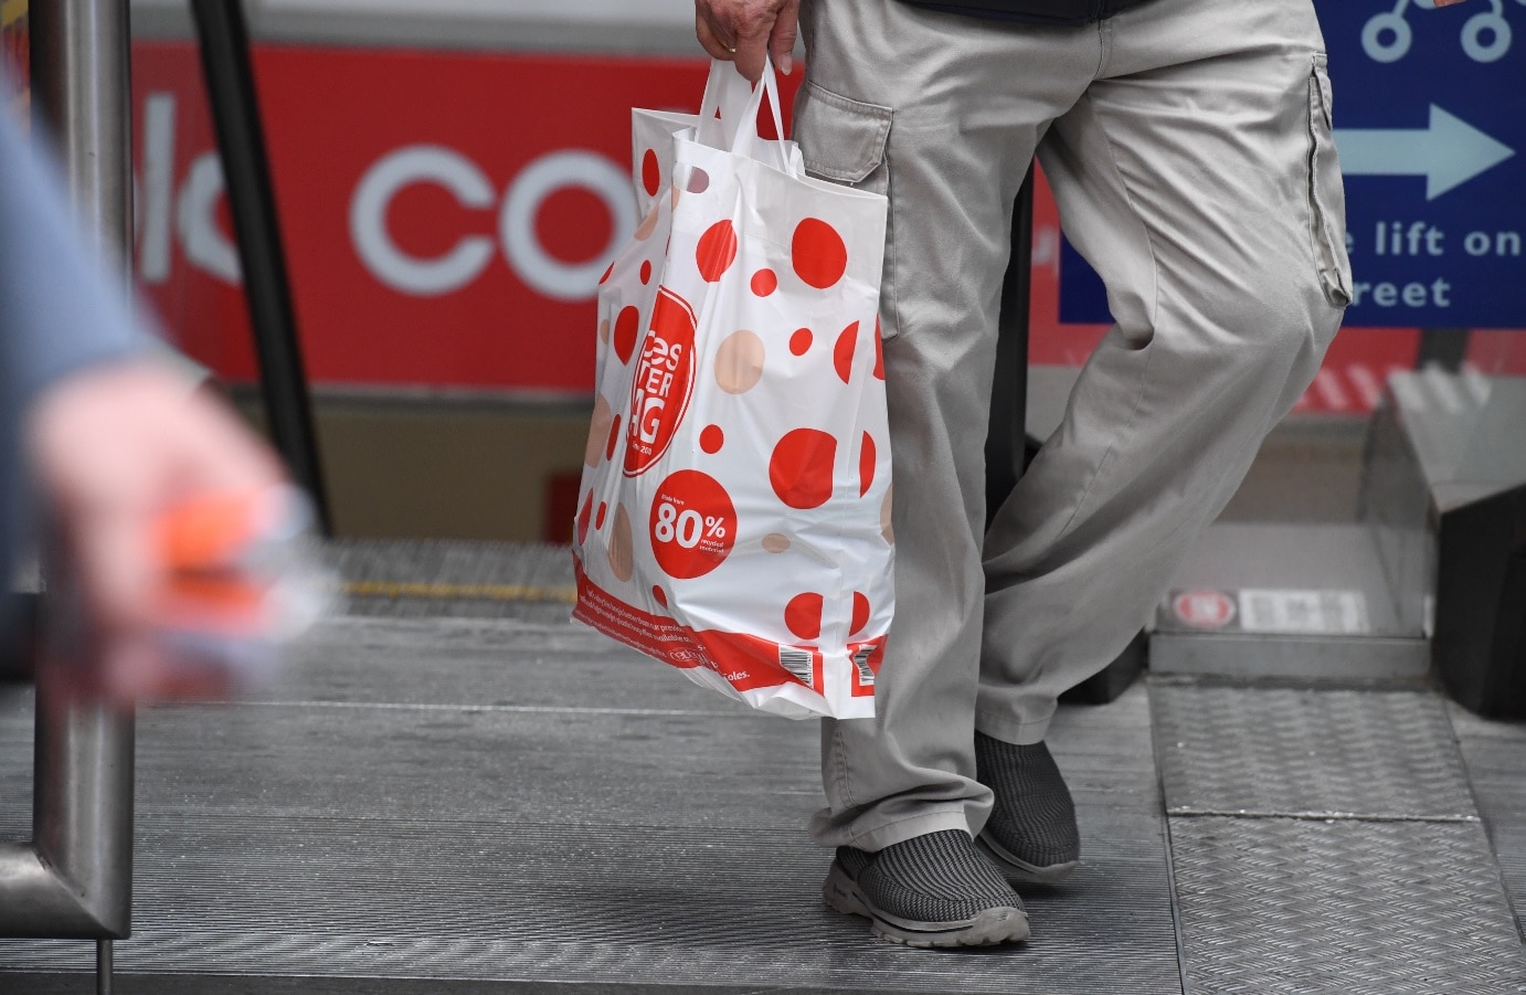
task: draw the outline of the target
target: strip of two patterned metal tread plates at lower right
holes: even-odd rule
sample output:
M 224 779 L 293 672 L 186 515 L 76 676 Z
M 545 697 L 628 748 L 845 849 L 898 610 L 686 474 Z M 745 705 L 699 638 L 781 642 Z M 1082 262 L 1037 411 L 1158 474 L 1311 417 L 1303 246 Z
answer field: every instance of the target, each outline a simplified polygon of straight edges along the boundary
M 1434 694 L 1155 679 L 1151 711 L 1189 990 L 1526 990 Z

